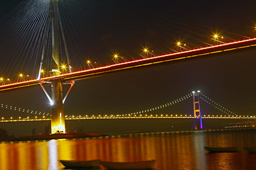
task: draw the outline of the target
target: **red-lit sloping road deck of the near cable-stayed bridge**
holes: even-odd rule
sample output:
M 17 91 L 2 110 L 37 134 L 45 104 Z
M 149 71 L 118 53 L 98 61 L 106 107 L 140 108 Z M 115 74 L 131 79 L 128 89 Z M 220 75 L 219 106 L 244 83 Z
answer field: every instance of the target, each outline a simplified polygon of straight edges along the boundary
M 75 81 L 79 79 L 88 79 L 114 72 L 121 72 L 129 69 L 137 69 L 143 67 L 158 66 L 161 64 L 171 64 L 174 62 L 186 62 L 189 60 L 198 60 L 207 57 L 215 57 L 220 55 L 229 55 L 235 52 L 242 52 L 246 50 L 256 49 L 256 38 L 250 38 L 247 40 L 240 40 L 236 42 L 225 43 L 221 45 L 215 45 L 210 47 L 203 47 L 195 50 L 188 50 L 183 52 L 172 53 L 168 55 L 160 55 L 156 57 L 149 57 L 142 60 L 134 60 L 130 62 L 122 62 L 119 64 L 112 64 L 105 67 L 98 67 L 95 69 L 86 69 L 78 72 L 72 72 L 69 74 L 60 74 L 54 77 L 44 77 L 38 81 L 33 79 L 30 81 L 22 81 L 14 84 L 6 84 L 0 86 L 0 91 L 6 91 L 11 89 L 18 89 L 25 86 L 33 86 L 39 84 L 39 82 L 48 82 L 55 79 L 62 79 L 63 81 Z

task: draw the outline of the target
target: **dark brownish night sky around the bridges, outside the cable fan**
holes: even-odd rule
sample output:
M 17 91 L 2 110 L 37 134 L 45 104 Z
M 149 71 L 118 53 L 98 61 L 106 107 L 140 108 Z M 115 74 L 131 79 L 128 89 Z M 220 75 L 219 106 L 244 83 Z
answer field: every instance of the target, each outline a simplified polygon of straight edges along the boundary
M 4 1 L 0 19 L 20 2 Z M 90 16 L 85 16 L 88 26 L 83 31 L 70 33 L 67 38 L 73 62 L 90 58 L 103 65 L 112 63 L 112 52 L 139 58 L 145 45 L 161 55 L 171 52 L 167 46 L 174 49 L 176 40 L 192 44 L 195 39 L 191 36 L 198 34 L 199 40 L 206 41 L 203 36 L 210 39 L 215 30 L 236 40 L 242 39 L 238 35 L 256 35 L 253 31 L 255 1 L 129 0 L 89 4 L 94 8 L 88 10 Z M 73 35 L 80 38 L 79 45 L 73 43 L 76 40 L 72 39 Z M 198 41 L 198 45 L 202 44 Z M 201 90 L 234 113 L 255 115 L 255 56 L 256 51 L 249 51 L 76 81 L 65 111 L 67 115 L 125 114 Z M 6 55 L 0 60 L 6 61 Z M 0 94 L 0 103 L 49 111 L 47 98 L 39 86 Z M 192 114 L 191 108 L 192 101 L 188 101 L 162 112 Z M 1 116 L 6 110 L 0 109 Z M 215 113 L 210 106 L 203 106 L 203 111 Z

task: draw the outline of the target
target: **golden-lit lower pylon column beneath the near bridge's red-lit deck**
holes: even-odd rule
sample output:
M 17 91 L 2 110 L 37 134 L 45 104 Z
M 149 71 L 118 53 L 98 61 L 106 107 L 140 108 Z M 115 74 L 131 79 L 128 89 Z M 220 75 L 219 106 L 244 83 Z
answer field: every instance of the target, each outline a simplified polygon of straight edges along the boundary
M 51 133 L 65 133 L 65 113 L 63 104 L 63 86 L 61 80 L 52 81 Z

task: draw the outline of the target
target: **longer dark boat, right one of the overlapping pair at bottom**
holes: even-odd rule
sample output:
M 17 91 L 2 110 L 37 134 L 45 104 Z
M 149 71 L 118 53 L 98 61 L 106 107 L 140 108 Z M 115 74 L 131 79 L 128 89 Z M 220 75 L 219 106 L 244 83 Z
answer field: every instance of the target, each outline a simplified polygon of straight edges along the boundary
M 144 162 L 102 162 L 107 169 L 153 169 L 155 160 Z

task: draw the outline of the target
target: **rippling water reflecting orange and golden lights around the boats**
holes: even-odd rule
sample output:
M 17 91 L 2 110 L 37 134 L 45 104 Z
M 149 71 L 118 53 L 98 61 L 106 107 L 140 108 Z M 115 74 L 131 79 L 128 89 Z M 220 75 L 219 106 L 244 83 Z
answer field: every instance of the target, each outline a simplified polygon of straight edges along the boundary
M 256 169 L 256 154 L 210 154 L 204 147 L 256 147 L 256 131 L 50 140 L 0 144 L 0 169 L 63 169 L 59 159 L 134 162 L 156 159 L 156 169 Z M 102 168 L 103 169 L 103 168 Z

